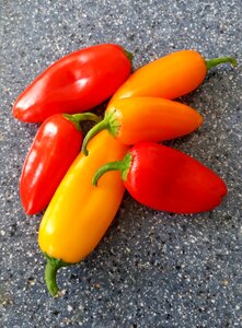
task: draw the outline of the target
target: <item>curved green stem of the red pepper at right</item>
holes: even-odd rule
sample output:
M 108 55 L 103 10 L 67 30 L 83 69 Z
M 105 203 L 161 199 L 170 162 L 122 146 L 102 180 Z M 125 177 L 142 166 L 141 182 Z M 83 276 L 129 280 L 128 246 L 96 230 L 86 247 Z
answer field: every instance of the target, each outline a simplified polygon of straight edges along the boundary
M 126 180 L 130 165 L 131 154 L 128 152 L 122 161 L 110 162 L 101 166 L 92 178 L 92 185 L 97 186 L 97 181 L 101 178 L 101 176 L 108 171 L 120 171 L 123 180 Z

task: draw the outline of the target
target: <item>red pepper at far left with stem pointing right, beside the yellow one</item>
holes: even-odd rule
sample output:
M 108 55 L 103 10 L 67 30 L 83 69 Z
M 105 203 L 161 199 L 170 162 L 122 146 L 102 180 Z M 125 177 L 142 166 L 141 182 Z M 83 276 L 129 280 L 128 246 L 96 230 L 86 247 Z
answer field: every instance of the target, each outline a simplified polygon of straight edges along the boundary
M 20 178 L 20 196 L 27 214 L 46 208 L 78 155 L 82 143 L 81 120 L 99 121 L 91 113 L 48 117 L 38 129 L 24 161 Z

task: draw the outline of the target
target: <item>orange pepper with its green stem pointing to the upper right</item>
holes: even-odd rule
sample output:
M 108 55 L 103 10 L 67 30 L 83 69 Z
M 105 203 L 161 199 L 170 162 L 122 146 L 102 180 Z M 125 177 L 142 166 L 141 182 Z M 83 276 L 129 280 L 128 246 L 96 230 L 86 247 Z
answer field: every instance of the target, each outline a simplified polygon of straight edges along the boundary
M 134 96 L 177 98 L 198 87 L 207 71 L 223 62 L 237 66 L 234 58 L 205 60 L 195 50 L 170 54 L 135 71 L 113 95 L 111 104 L 116 99 Z

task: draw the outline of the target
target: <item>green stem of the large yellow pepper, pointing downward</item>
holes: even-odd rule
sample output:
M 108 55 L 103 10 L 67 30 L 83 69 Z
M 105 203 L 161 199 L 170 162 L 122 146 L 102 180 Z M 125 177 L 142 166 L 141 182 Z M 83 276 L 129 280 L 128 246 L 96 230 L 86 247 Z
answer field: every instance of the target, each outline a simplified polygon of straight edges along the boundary
M 49 257 L 46 254 L 45 257 L 47 259 L 46 267 L 45 267 L 45 282 L 49 291 L 49 294 L 54 297 L 59 291 L 56 281 L 57 271 L 59 270 L 59 268 L 69 266 L 70 263 L 64 262 L 60 259 L 55 259 L 53 257 Z

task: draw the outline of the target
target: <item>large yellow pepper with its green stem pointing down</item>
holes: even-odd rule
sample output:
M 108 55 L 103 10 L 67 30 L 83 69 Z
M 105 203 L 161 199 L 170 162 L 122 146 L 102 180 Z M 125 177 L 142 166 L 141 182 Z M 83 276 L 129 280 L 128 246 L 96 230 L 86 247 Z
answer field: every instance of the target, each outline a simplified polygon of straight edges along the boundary
M 120 174 L 107 174 L 100 188 L 92 186 L 92 177 L 104 163 L 122 160 L 127 150 L 102 131 L 90 142 L 90 155 L 78 155 L 55 192 L 38 233 L 47 258 L 45 280 L 53 296 L 58 292 L 57 270 L 84 259 L 113 221 L 125 191 Z

